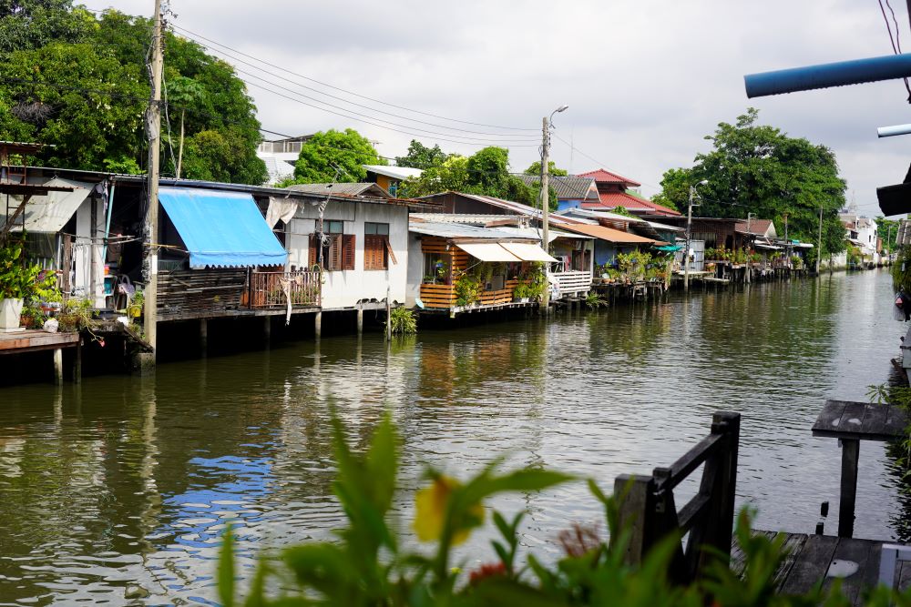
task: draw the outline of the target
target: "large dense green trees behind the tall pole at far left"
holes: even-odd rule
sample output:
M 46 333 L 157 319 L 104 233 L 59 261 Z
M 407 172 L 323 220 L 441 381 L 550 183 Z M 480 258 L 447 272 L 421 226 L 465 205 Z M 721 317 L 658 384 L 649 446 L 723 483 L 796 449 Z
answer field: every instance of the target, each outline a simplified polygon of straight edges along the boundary
M 150 19 L 72 0 L 0 0 L 0 131 L 51 144 L 56 167 L 140 172 L 148 147 Z M 173 175 L 185 119 L 181 177 L 261 184 L 256 108 L 233 68 L 202 46 L 165 35 L 162 173 Z M 171 150 L 173 149 L 173 154 Z

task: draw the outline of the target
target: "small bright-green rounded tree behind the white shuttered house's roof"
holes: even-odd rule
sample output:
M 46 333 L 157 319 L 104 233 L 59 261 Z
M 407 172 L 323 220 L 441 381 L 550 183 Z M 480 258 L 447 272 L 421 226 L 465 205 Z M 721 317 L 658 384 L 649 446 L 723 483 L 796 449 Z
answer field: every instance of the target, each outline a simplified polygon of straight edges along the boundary
M 367 137 L 353 128 L 344 131 L 330 129 L 315 134 L 302 145 L 292 183 L 363 181 L 367 178 L 367 171 L 362 165 L 384 164 L 386 161 Z

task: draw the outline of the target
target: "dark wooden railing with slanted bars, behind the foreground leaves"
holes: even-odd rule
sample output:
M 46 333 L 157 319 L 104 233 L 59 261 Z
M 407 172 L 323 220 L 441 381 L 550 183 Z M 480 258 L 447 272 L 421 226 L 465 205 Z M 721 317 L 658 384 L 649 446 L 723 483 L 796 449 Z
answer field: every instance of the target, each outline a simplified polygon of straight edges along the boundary
M 711 418 L 711 434 L 670 468 L 656 468 L 651 476 L 617 477 L 614 495 L 619 529 L 629 533 L 628 562 L 640 563 L 669 534 L 682 538 L 687 532 L 686 549 L 678 543 L 670 563 L 674 582 L 692 582 L 712 560 L 730 557 L 739 442 L 740 413 L 718 412 Z M 702 464 L 699 492 L 678 510 L 674 488 Z

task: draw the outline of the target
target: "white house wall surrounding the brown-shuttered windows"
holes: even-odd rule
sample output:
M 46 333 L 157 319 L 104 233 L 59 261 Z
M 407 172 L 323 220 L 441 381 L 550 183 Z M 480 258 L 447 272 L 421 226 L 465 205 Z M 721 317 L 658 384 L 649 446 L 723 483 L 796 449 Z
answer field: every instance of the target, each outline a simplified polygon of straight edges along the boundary
M 319 209 L 305 204 L 287 228 L 285 242 L 288 250 L 288 269 L 305 269 L 310 259 L 310 235 L 316 230 Z M 322 308 L 354 308 L 372 299 L 382 301 L 387 288 L 393 302 L 404 304 L 408 272 L 408 208 L 363 202 L 330 202 L 323 214 L 324 221 L 343 221 L 344 234 L 354 235 L 354 269 L 323 272 Z M 395 263 L 389 258 L 385 270 L 363 269 L 363 224 L 389 224 L 389 244 Z

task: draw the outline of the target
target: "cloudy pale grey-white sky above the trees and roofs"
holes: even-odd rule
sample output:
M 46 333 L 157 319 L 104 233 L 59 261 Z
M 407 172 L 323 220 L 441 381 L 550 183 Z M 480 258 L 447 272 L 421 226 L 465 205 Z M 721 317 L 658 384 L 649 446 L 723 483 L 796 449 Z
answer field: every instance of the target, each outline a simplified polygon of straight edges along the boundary
M 899 41 L 911 49 L 906 3 L 891 3 Z M 84 4 L 154 10 L 153 0 Z M 877 126 L 911 122 L 899 80 L 752 100 L 744 92 L 745 74 L 892 54 L 874 0 L 171 0 L 169 7 L 179 35 L 233 49 L 201 40 L 247 72 L 239 76 L 263 128 L 304 135 L 351 127 L 379 142 L 385 157 L 404 155 L 413 138 L 466 155 L 502 145 L 511 169 L 522 171 L 539 159 L 542 117 L 568 104 L 554 118 L 551 159 L 572 173 L 608 168 L 640 181 L 647 196 L 660 191 L 668 168 L 691 167 L 710 149 L 704 137 L 719 122 L 734 122 L 749 106 L 763 124 L 831 147 L 848 202 L 862 213 L 879 214 L 875 188 L 900 183 L 911 162 L 911 137 L 876 137 Z M 895 33 L 887 8 L 886 15 Z

